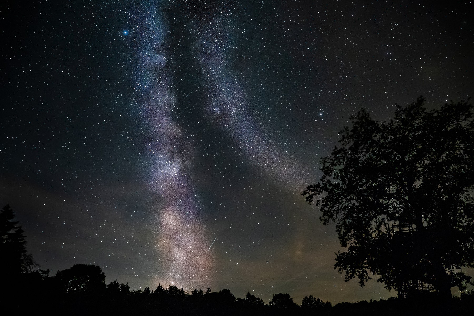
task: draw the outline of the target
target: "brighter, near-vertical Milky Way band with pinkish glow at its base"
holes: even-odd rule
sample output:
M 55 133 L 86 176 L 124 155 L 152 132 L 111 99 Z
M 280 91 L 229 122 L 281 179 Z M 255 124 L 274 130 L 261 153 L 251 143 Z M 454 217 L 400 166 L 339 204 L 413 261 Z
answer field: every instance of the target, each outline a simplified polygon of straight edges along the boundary
M 173 71 L 167 65 L 169 26 L 160 5 L 143 6 L 136 11 L 137 90 L 142 98 L 140 116 L 147 131 L 149 190 L 159 200 L 157 249 L 163 259 L 157 272 L 164 284 L 190 287 L 208 278 L 211 253 L 206 251 L 205 227 L 191 190 L 186 166 L 192 163 L 193 146 L 173 121 L 176 105 Z M 207 238 L 209 239 L 209 237 Z M 158 277 L 160 280 L 160 277 Z

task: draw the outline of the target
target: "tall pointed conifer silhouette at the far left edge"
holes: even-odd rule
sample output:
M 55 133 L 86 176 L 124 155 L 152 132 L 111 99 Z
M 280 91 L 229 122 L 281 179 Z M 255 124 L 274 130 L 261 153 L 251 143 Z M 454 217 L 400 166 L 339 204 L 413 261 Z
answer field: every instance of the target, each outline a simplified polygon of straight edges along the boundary
M 14 218 L 12 208 L 5 205 L 0 211 L 0 269 L 6 273 L 4 281 L 39 267 L 27 253 L 24 231 Z

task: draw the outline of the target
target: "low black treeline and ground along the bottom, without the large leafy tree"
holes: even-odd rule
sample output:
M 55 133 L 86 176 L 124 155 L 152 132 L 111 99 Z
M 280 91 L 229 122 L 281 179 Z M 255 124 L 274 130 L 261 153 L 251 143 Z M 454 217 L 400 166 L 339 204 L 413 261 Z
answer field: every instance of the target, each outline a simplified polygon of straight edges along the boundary
M 50 315 L 453 315 L 472 312 L 474 291 L 460 298 L 441 301 L 438 297 L 390 298 L 379 301 L 339 303 L 332 306 L 313 296 L 298 305 L 287 293 L 278 293 L 265 302 L 251 293 L 236 298 L 228 289 L 188 293 L 175 285 L 161 284 L 155 289 L 130 289 L 128 283 L 105 282 L 105 274 L 96 265 L 74 264 L 50 276 L 40 270 L 27 253 L 26 238 L 14 221 L 12 209 L 0 210 L 0 271 L 2 272 L 1 311 L 15 315 L 48 312 Z

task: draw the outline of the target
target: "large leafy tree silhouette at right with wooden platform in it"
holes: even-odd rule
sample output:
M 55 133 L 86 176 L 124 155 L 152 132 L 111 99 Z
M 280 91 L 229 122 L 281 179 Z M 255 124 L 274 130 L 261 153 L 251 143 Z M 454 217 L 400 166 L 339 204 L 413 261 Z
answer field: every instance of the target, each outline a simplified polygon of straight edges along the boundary
M 364 286 L 377 274 L 399 294 L 431 286 L 445 297 L 470 283 L 461 269 L 474 264 L 472 110 L 462 101 L 428 111 L 419 97 L 389 122 L 364 109 L 351 117 L 319 183 L 302 193 L 336 224 L 346 280 Z

